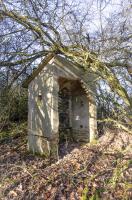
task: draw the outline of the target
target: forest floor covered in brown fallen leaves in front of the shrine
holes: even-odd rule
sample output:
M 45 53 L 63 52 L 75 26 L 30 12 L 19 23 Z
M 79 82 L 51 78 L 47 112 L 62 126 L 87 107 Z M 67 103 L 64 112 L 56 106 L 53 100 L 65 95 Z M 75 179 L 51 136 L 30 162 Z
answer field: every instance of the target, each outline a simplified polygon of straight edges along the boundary
M 15 134 L 14 134 L 15 133 Z M 130 200 L 132 135 L 108 130 L 56 163 L 27 151 L 24 124 L 0 140 L 0 199 Z

